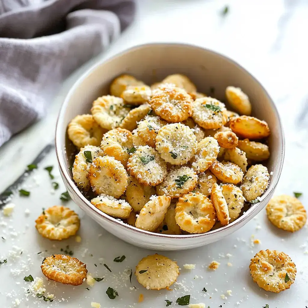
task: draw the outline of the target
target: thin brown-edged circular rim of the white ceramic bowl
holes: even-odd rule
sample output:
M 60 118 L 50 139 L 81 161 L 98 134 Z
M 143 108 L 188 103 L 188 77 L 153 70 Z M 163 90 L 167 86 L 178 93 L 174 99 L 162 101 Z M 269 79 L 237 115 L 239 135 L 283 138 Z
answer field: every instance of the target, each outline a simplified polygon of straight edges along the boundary
M 83 194 L 80 192 L 80 190 L 78 189 L 77 185 L 73 182 L 73 180 L 71 180 L 69 174 L 68 174 L 68 170 L 65 166 L 65 161 L 64 161 L 64 155 L 62 155 L 62 144 L 60 142 L 61 140 L 61 135 L 66 132 L 66 127 L 65 129 L 63 128 L 63 117 L 64 117 L 64 113 L 65 113 L 65 109 L 67 107 L 68 101 L 71 97 L 71 95 L 75 92 L 75 90 L 79 87 L 79 85 L 84 81 L 84 79 L 86 79 L 91 73 L 93 73 L 98 67 L 100 67 L 103 64 L 109 63 L 111 61 L 114 61 L 115 59 L 121 57 L 122 55 L 128 54 L 132 51 L 138 50 L 140 48 L 149 48 L 149 47 L 154 47 L 154 46 L 162 46 L 162 47 L 167 47 L 167 46 L 177 46 L 177 47 L 188 47 L 188 48 L 193 48 L 193 49 L 200 49 L 202 51 L 207 51 L 210 54 L 216 55 L 221 57 L 224 61 L 228 61 L 231 62 L 233 65 L 237 66 L 241 71 L 244 71 L 246 74 L 248 74 L 255 83 L 259 84 L 259 86 L 261 87 L 262 91 L 264 92 L 264 94 L 267 96 L 271 108 L 274 110 L 274 114 L 276 115 L 276 118 L 278 120 L 278 124 L 279 124 L 279 130 L 281 131 L 281 139 L 282 139 L 282 148 L 281 148 L 281 153 L 279 155 L 279 162 L 278 162 L 278 172 L 275 172 L 275 177 L 272 178 L 271 180 L 271 184 L 272 187 L 270 190 L 266 190 L 265 193 L 261 196 L 261 201 L 258 203 L 258 206 L 255 206 L 251 209 L 249 209 L 248 211 L 246 211 L 245 213 L 243 213 L 243 215 L 241 217 L 239 217 L 238 219 L 236 219 L 235 221 L 231 222 L 230 224 L 226 225 L 226 226 L 222 226 L 218 229 L 214 229 L 214 230 L 210 230 L 206 233 L 194 233 L 194 234 L 181 234 L 181 235 L 173 235 L 173 234 L 162 234 L 162 233 L 153 233 L 153 232 L 149 232 L 146 230 L 142 230 L 142 229 L 138 229 L 136 227 L 133 227 L 131 225 L 128 225 L 126 223 L 124 223 L 123 221 L 119 221 L 118 219 L 111 217 L 105 213 L 103 213 L 102 211 L 100 211 L 99 209 L 97 209 L 94 205 L 91 204 L 90 201 L 88 201 Z M 64 132 L 63 132 L 64 131 Z M 280 178 L 281 175 L 281 171 L 282 171 L 282 165 L 283 165 L 283 161 L 284 161 L 284 155 L 285 155 L 285 136 L 284 136 L 284 131 L 282 128 L 282 123 L 281 123 L 281 119 L 278 113 L 278 110 L 274 104 L 274 101 L 272 100 L 272 98 L 270 97 L 270 95 L 268 94 L 268 92 L 265 90 L 265 88 L 262 86 L 262 84 L 249 72 L 247 71 L 244 67 L 242 67 L 240 64 L 238 64 L 236 61 L 230 59 L 229 57 L 222 55 L 219 52 L 213 51 L 211 49 L 205 48 L 205 47 L 201 47 L 195 44 L 186 44 L 186 43 L 145 43 L 145 44 L 140 44 L 140 45 L 136 45 L 133 47 L 130 47 L 128 49 L 125 49 L 123 51 L 120 51 L 119 53 L 113 55 L 113 56 L 109 56 L 107 59 L 102 59 L 100 61 L 98 61 L 97 63 L 95 63 L 94 65 L 92 65 L 86 72 L 84 72 L 73 84 L 73 86 L 71 87 L 71 89 L 69 90 L 69 92 L 67 93 L 67 95 L 65 96 L 65 99 L 63 101 L 63 104 L 60 108 L 59 111 L 59 115 L 57 118 L 57 122 L 56 122 L 56 132 L 55 132 L 55 151 L 56 151 L 56 156 L 57 156 L 57 160 L 58 160 L 58 164 L 59 164 L 59 169 L 60 172 L 62 173 L 62 175 L 64 176 L 67 184 L 70 186 L 71 188 L 71 193 L 74 192 L 76 197 L 78 197 L 84 206 L 86 206 L 90 211 L 94 211 L 96 214 L 98 214 L 100 217 L 102 217 L 104 220 L 108 221 L 109 223 L 113 223 L 115 225 L 118 225 L 120 228 L 124 228 L 124 229 L 129 229 L 129 231 L 135 232 L 135 233 L 140 233 L 141 235 L 146 235 L 146 236 L 152 236 L 152 237 L 157 237 L 157 239 L 159 238 L 169 238 L 169 239 L 173 239 L 173 240 L 183 240 L 183 239 L 188 239 L 188 238 L 207 238 L 207 237 L 211 237 L 217 233 L 223 233 L 227 230 L 234 229 L 235 226 L 239 225 L 239 224 L 243 224 L 245 225 L 245 223 L 247 223 L 251 218 L 253 218 L 257 213 L 259 213 L 261 211 L 261 209 L 263 209 L 265 207 L 265 199 L 271 195 L 277 184 L 278 184 L 278 180 Z M 65 151 L 64 151 L 65 152 Z M 235 228 L 236 229 L 236 228 Z M 107 230 L 108 231 L 108 230 Z M 235 231 L 235 230 L 234 230 Z

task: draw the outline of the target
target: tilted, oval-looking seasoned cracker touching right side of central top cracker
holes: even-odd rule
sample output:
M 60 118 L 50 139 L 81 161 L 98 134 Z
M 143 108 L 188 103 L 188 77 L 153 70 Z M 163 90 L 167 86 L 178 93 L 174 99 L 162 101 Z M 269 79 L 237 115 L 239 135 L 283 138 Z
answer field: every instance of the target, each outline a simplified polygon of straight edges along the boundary
M 196 155 L 192 158 L 192 168 L 197 172 L 204 172 L 217 159 L 219 145 L 213 137 L 202 139 L 197 146 Z

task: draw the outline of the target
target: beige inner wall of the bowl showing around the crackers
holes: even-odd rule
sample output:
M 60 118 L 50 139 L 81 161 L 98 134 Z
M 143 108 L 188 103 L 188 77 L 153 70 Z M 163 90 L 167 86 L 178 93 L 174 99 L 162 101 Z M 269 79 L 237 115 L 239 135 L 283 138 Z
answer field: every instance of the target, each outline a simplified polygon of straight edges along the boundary
M 79 79 L 67 95 L 57 124 L 56 144 L 59 157 L 64 158 L 63 169 L 70 168 L 74 154 L 74 147 L 66 137 L 68 123 L 76 115 L 90 113 L 92 102 L 97 97 L 108 94 L 111 81 L 123 73 L 133 75 L 148 85 L 167 75 L 182 73 L 196 84 L 199 92 L 224 102 L 227 86 L 241 87 L 252 103 L 252 115 L 265 120 L 271 129 L 268 139 L 271 156 L 266 165 L 273 176 L 267 192 L 274 189 L 282 167 L 284 143 L 274 103 L 261 84 L 237 63 L 213 51 L 182 44 L 147 44 L 134 47 L 96 65 Z M 67 172 L 67 175 L 65 173 L 72 181 L 71 172 Z M 261 206 L 254 205 L 239 219 L 249 215 L 250 211 L 255 211 L 258 205 Z

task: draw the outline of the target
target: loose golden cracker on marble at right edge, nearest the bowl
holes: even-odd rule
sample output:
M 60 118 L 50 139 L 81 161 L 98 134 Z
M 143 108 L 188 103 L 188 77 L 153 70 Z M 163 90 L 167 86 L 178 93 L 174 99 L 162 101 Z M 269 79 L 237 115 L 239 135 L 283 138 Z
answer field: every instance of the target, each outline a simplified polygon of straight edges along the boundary
M 267 218 L 270 222 L 286 231 L 301 229 L 307 220 L 307 213 L 302 202 L 288 195 L 275 196 L 266 206 Z

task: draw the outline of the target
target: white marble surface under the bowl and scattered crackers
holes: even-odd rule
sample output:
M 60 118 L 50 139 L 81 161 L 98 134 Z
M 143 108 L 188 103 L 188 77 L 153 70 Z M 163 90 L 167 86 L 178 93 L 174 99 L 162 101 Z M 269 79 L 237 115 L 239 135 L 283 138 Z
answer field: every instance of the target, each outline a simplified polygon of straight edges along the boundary
M 15 136 L 10 142 L 0 148 L 0 191 L 10 185 L 23 172 L 37 154 L 48 143 L 53 142 L 55 122 L 59 107 L 64 95 L 76 78 L 98 59 L 111 56 L 127 47 L 147 42 L 185 42 L 208 47 L 219 51 L 243 65 L 248 69 L 269 91 L 277 104 L 286 134 L 286 159 L 276 193 L 289 193 L 302 191 L 302 202 L 307 204 L 308 197 L 305 193 L 307 183 L 307 124 L 308 115 L 305 114 L 307 104 L 307 77 L 308 44 L 305 29 L 308 26 L 308 2 L 305 0 L 260 0 L 248 1 L 204 1 L 204 0 L 139 0 L 139 9 L 136 22 L 115 42 L 103 55 L 87 63 L 75 72 L 63 84 L 63 88 L 51 103 L 47 116 L 25 132 Z M 229 14 L 225 17 L 220 11 L 225 4 L 229 5 Z M 306 119 L 306 121 L 305 121 Z M 81 215 L 82 226 L 80 235 L 83 241 L 78 244 L 74 239 L 64 243 L 53 243 L 40 238 L 34 229 L 34 220 L 41 212 L 42 207 L 59 204 L 59 195 L 63 191 L 62 185 L 52 195 L 50 193 L 50 180 L 47 172 L 42 170 L 47 165 L 54 165 L 56 158 L 54 152 L 46 157 L 40 164 L 40 170 L 35 171 L 35 176 L 30 176 L 25 187 L 29 187 L 31 195 L 26 197 L 13 197 L 16 207 L 12 217 L 0 216 L 0 260 L 7 257 L 8 263 L 2 264 L 0 279 L 1 307 L 13 307 L 12 303 L 18 298 L 19 307 L 91 307 L 91 302 L 100 302 L 104 307 L 164 307 L 164 299 L 175 302 L 176 298 L 185 294 L 192 294 L 191 303 L 204 302 L 211 308 L 219 307 L 256 307 L 261 308 L 268 304 L 270 308 L 302 307 L 308 305 L 306 282 L 308 266 L 306 251 L 307 229 L 304 228 L 295 234 L 279 231 L 272 227 L 265 217 L 265 211 L 250 221 L 244 228 L 217 243 L 190 251 L 164 253 L 172 259 L 178 260 L 180 267 L 184 263 L 196 264 L 195 270 L 184 270 L 182 267 L 179 281 L 184 280 L 188 286 L 174 291 L 148 291 L 138 285 L 135 278 L 132 284 L 137 291 L 129 289 L 124 283 L 118 285 L 119 298 L 109 300 L 105 294 L 108 286 L 115 287 L 114 272 L 126 268 L 134 269 L 137 260 L 149 253 L 145 249 L 135 248 L 113 237 L 88 217 Z M 58 171 L 55 170 L 55 174 Z M 35 184 L 39 178 L 39 185 Z M 58 175 L 60 182 L 60 177 Z M 31 187 L 32 186 L 32 187 Z M 72 202 L 68 204 L 76 208 Z M 30 209 L 30 215 L 25 216 L 25 209 Z M 260 226 L 261 229 L 257 228 Z M 17 233 L 17 236 L 15 234 Z M 11 234 L 12 233 L 12 234 Z M 98 237 L 99 234 L 102 236 Z M 251 247 L 251 235 L 261 240 L 260 245 Z M 239 239 L 239 240 L 238 240 Z M 16 245 L 22 248 L 23 253 L 16 261 L 10 260 L 10 250 Z M 53 247 L 56 245 L 56 247 Z M 79 257 L 88 264 L 88 269 L 96 277 L 105 276 L 102 282 L 96 282 L 93 289 L 85 290 L 87 286 L 54 287 L 51 283 L 47 291 L 54 293 L 56 300 L 46 303 L 39 299 L 30 298 L 25 301 L 24 290 L 27 283 L 22 280 L 25 275 L 42 276 L 39 265 L 46 256 L 58 253 L 60 248 L 70 245 L 74 256 Z M 237 247 L 235 248 L 234 245 Z M 110 248 L 112 247 L 112 249 Z M 88 251 L 84 252 L 87 248 Z M 46 254 L 38 252 L 48 250 Z M 288 253 L 297 265 L 297 278 L 290 290 L 281 294 L 266 293 L 254 284 L 249 276 L 249 260 L 260 249 L 278 249 Z M 232 254 L 228 259 L 227 253 Z M 91 257 L 93 254 L 93 257 Z M 123 263 L 113 262 L 113 258 L 126 255 Z M 28 256 L 29 255 L 29 256 Z M 104 261 L 99 261 L 103 257 Z M 27 261 L 31 259 L 31 261 Z M 221 263 L 216 272 L 209 272 L 207 265 L 213 259 Z M 23 267 L 22 261 L 29 263 Z M 232 263 L 228 267 L 227 263 Z M 98 266 L 95 267 L 95 264 Z M 109 273 L 103 265 L 110 266 Z M 202 267 L 204 265 L 204 267 Z M 26 270 L 14 276 L 10 270 Z M 16 274 L 16 272 L 15 272 Z M 194 279 L 195 275 L 199 278 Z M 202 276 L 202 278 L 201 278 Z M 5 279 L 3 279 L 5 277 Z M 20 284 L 16 284 L 20 282 Z M 204 294 L 202 288 L 208 290 Z M 245 288 L 245 290 L 243 289 Z M 217 289 L 217 291 L 215 290 Z M 13 292 L 14 290 L 14 292 Z M 232 290 L 233 296 L 228 296 L 226 290 Z M 65 293 L 63 293 L 65 292 Z M 7 296 L 11 293 L 12 298 Z M 138 295 L 144 294 L 144 302 L 138 301 Z M 227 296 L 222 299 L 221 294 Z M 61 298 L 64 298 L 63 302 Z M 59 302 L 61 300 L 61 302 Z M 239 304 L 237 304 L 237 302 Z M 225 303 L 225 304 L 224 304 Z M 174 303 L 173 303 L 174 305 Z M 172 307 L 172 306 L 170 306 Z

